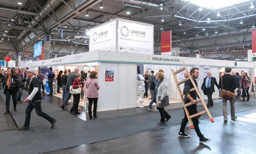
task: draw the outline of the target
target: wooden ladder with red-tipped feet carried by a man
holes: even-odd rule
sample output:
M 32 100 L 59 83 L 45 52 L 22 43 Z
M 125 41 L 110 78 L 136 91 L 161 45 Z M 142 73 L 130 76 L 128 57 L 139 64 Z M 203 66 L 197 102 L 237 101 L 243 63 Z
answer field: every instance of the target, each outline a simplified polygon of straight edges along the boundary
M 182 72 L 182 71 L 184 71 L 184 70 L 187 71 L 188 77 L 187 77 L 186 79 L 181 80 L 181 81 L 178 82 L 177 77 L 176 77 L 176 74 L 178 74 L 178 73 L 180 73 L 180 72 Z M 209 112 L 209 110 L 208 110 L 208 108 L 207 108 L 207 106 L 206 106 L 206 104 L 205 104 L 205 102 L 204 102 L 204 100 L 203 100 L 201 94 L 199 93 L 199 90 L 198 90 L 198 88 L 196 87 L 196 83 L 194 82 L 192 76 L 190 75 L 190 73 L 189 73 L 189 71 L 188 71 L 186 65 L 183 63 L 183 67 L 182 67 L 181 69 L 175 71 L 175 72 L 174 72 L 174 70 L 172 69 L 172 75 L 173 75 L 174 81 L 175 81 L 175 83 L 176 83 L 177 89 L 178 89 L 178 91 L 179 91 L 179 93 L 180 93 L 180 99 L 181 99 L 181 101 L 182 101 L 183 107 L 184 107 L 185 112 L 186 112 L 186 115 L 187 115 L 187 117 L 188 117 L 188 122 L 189 122 L 189 124 L 190 124 L 190 128 L 191 128 L 191 129 L 194 129 L 194 125 L 193 125 L 191 119 L 194 118 L 194 117 L 196 117 L 196 116 L 202 115 L 202 114 L 204 114 L 204 113 L 207 113 L 207 115 L 209 116 L 211 122 L 214 122 L 214 120 L 212 119 L 212 115 L 210 114 L 210 112 Z M 193 105 L 193 104 L 191 104 L 191 102 L 185 104 L 185 101 L 184 101 L 184 98 L 183 98 L 183 95 L 185 95 L 185 94 L 183 94 L 183 93 L 181 92 L 181 90 L 180 90 L 180 85 L 181 85 L 182 83 L 185 83 L 185 82 L 188 81 L 188 80 L 190 80 L 191 83 L 192 83 L 193 86 L 194 86 L 194 88 L 189 89 L 189 93 L 191 93 L 191 92 L 193 92 L 193 91 L 196 91 L 197 95 L 199 96 L 199 99 L 197 99 L 196 101 L 197 101 L 197 102 L 200 102 L 200 101 L 201 101 L 202 104 L 203 104 L 203 106 L 204 106 L 204 109 L 205 109 L 204 111 L 198 112 L 198 113 L 196 113 L 196 114 L 194 114 L 194 115 L 189 115 L 189 112 L 188 112 L 188 109 L 187 109 L 188 106 Z

